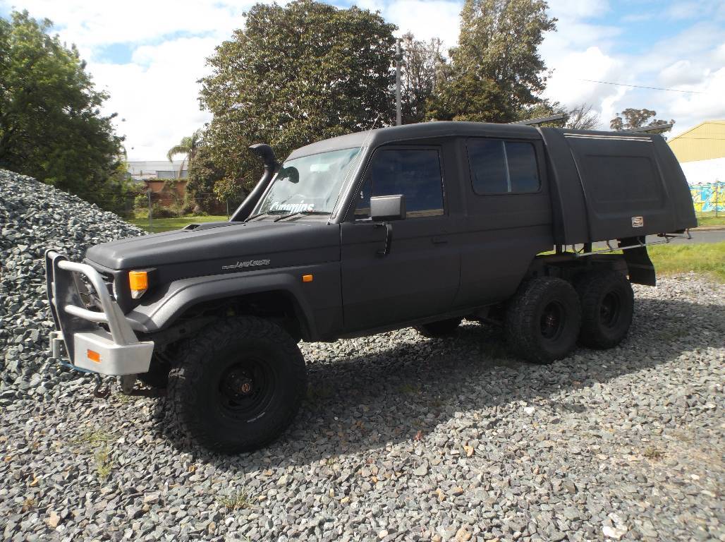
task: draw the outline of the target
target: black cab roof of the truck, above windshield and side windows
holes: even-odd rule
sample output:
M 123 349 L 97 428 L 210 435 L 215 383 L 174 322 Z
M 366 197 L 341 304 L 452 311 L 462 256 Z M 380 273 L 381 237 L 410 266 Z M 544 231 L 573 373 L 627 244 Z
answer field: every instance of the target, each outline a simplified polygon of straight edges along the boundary
M 446 136 L 505 136 L 518 139 L 541 139 L 541 134 L 539 134 L 539 131 L 534 126 L 434 121 L 376 128 L 375 130 L 356 132 L 355 134 L 347 134 L 345 136 L 317 141 L 316 143 L 300 147 L 293 151 L 288 159 L 316 155 L 319 152 L 337 149 L 363 147 L 363 145 L 366 147 L 377 147 L 380 144 L 393 143 L 394 141 L 409 141 L 410 139 L 428 139 Z

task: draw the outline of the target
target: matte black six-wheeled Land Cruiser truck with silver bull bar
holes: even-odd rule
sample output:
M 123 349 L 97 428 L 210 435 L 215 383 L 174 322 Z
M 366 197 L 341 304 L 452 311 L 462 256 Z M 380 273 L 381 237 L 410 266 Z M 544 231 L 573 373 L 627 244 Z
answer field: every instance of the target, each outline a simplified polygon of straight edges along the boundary
M 252 151 L 265 172 L 228 222 L 46 252 L 54 356 L 167 387 L 179 426 L 229 453 L 293 419 L 300 340 L 465 318 L 534 363 L 611 348 L 630 283 L 655 284 L 647 245 L 697 225 L 660 136 L 439 122 Z

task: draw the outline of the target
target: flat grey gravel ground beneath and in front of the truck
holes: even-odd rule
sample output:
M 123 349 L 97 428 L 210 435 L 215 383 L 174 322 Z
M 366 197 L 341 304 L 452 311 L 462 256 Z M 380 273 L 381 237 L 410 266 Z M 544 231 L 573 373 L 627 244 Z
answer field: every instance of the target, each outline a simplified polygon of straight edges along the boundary
M 550 366 L 500 330 L 303 344 L 307 401 L 261 451 L 83 380 L 4 406 L 4 541 L 725 541 L 725 292 L 637 288 L 613 350 Z M 36 348 L 36 347 L 33 347 Z M 29 347 L 30 349 L 30 347 Z

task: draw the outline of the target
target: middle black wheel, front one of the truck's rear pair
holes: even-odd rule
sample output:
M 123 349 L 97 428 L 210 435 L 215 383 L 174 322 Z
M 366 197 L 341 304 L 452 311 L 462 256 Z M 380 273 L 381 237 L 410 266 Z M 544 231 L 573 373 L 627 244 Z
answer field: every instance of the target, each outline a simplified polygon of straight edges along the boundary
M 523 284 L 506 311 L 506 339 L 526 361 L 549 364 L 576 346 L 581 308 L 576 290 L 562 279 L 542 276 Z

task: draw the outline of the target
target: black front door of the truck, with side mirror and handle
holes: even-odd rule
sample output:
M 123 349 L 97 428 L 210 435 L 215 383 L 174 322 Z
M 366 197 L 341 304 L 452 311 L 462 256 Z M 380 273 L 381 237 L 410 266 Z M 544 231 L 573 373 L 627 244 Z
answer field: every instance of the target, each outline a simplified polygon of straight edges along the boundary
M 346 332 L 386 327 L 447 311 L 459 283 L 459 257 L 444 192 L 439 147 L 377 149 L 341 224 Z M 386 228 L 371 221 L 370 197 L 402 194 L 407 216 Z

